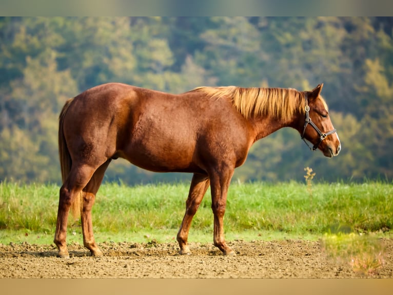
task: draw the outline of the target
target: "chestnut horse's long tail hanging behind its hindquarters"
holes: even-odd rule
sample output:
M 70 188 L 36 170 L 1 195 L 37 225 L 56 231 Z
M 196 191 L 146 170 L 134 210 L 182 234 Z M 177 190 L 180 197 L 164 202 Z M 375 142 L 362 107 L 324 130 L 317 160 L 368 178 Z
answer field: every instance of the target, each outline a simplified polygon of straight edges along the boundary
M 62 112 L 60 113 L 58 120 L 58 156 L 60 158 L 60 168 L 62 172 L 62 182 L 66 181 L 68 175 L 71 171 L 72 159 L 70 152 L 68 151 L 66 139 L 64 137 L 64 118 L 66 116 L 68 107 L 72 102 L 72 98 L 67 100 L 65 105 L 63 106 Z M 81 192 L 78 197 L 71 204 L 71 212 L 74 218 L 76 219 L 78 215 L 81 214 L 82 209 L 82 197 L 83 193 Z

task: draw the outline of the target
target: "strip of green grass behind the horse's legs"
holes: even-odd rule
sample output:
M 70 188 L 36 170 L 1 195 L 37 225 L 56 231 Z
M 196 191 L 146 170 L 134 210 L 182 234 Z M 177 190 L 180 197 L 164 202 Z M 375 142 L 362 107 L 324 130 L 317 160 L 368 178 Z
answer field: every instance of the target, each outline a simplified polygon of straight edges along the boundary
M 189 184 L 128 187 L 105 183 L 93 207 L 97 242 L 174 242 Z M 52 243 L 57 185 L 0 183 L 0 243 Z M 232 183 L 224 219 L 226 239 L 318 239 L 326 233 L 391 236 L 393 184 Z M 210 191 L 194 217 L 190 242 L 211 242 Z M 80 220 L 70 215 L 68 242 L 82 243 Z

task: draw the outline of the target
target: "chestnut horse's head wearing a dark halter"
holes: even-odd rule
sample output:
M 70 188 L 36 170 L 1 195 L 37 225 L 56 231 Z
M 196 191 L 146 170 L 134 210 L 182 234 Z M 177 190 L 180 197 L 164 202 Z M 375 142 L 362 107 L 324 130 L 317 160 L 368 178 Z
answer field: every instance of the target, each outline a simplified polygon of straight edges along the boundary
M 326 157 L 337 156 L 341 143 L 336 129 L 330 121 L 327 105 L 320 96 L 323 84 L 311 91 L 305 91 L 305 114 L 299 124 L 302 139 L 311 151 L 320 149 Z M 309 146 L 307 139 L 313 146 Z

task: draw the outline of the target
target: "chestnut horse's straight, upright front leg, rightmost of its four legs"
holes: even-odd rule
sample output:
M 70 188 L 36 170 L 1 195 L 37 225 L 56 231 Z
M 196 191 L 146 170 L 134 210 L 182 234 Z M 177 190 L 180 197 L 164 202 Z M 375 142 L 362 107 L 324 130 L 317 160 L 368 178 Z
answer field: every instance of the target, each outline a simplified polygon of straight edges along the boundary
M 211 209 L 214 214 L 214 246 L 218 247 L 224 255 L 235 255 L 235 252 L 226 244 L 224 238 L 224 214 L 227 193 L 233 169 L 222 171 L 221 175 L 211 176 Z

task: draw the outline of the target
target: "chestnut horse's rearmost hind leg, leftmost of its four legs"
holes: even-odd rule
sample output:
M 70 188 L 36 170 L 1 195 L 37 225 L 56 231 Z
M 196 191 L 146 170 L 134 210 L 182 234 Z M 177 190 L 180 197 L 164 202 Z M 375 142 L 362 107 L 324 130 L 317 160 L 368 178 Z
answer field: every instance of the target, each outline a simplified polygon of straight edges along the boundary
M 92 168 L 89 165 L 73 164 L 67 180 L 60 189 L 56 232 L 54 234 L 53 240 L 58 249 L 58 257 L 69 257 L 66 243 L 68 213 L 73 202 L 76 200 L 76 198 L 80 197 L 83 188 L 89 182 L 94 171 L 95 168 Z

